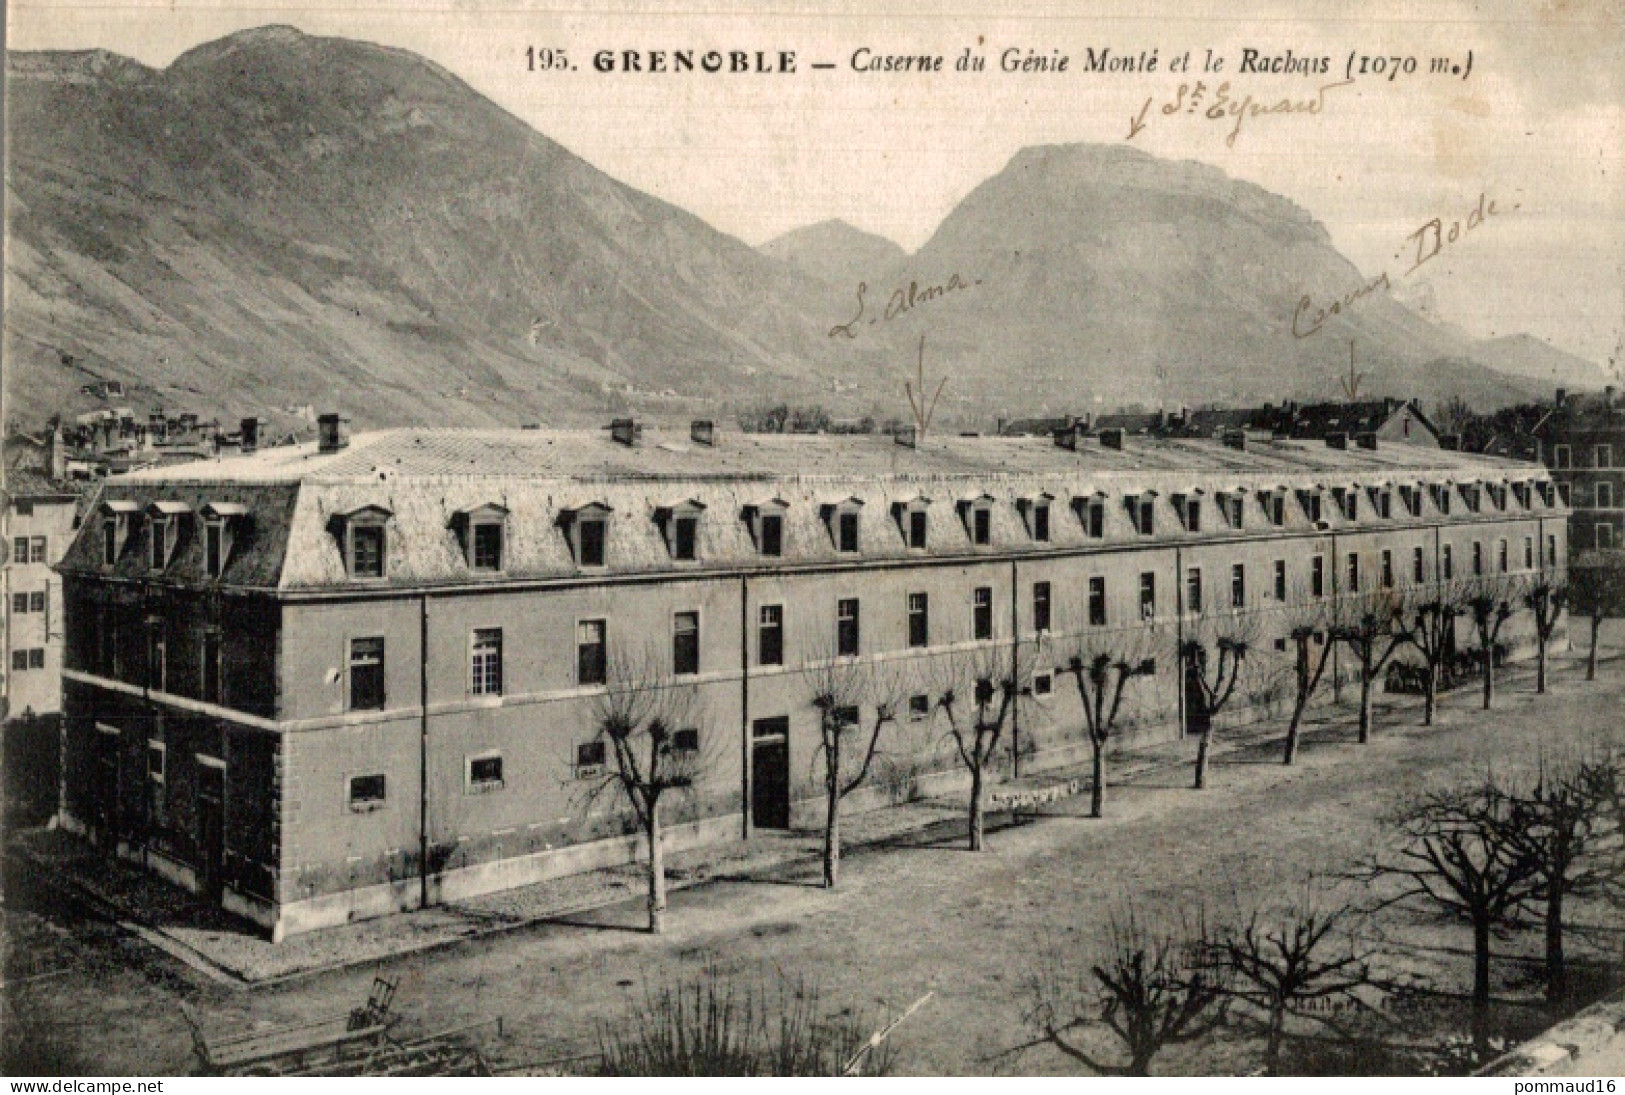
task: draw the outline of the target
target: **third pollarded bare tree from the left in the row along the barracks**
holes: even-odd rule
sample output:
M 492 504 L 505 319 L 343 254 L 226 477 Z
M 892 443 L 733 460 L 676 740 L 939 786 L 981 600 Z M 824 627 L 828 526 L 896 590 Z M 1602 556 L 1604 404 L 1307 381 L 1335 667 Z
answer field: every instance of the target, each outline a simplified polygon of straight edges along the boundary
M 983 647 L 938 663 L 938 708 L 947 738 L 970 773 L 970 850 L 982 851 L 982 798 L 1004 728 L 1016 705 L 1032 695 L 1032 658 L 1006 645 Z

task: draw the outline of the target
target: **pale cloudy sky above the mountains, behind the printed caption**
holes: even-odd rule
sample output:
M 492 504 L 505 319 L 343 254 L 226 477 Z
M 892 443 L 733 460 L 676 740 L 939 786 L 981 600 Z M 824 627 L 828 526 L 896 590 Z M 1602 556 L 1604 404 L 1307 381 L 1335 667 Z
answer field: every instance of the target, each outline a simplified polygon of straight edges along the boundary
M 154 67 L 266 23 L 410 49 L 616 179 L 751 244 L 840 218 L 915 250 L 1020 148 L 1126 141 L 1297 201 L 1367 278 L 1386 273 L 1402 299 L 1472 335 L 1528 331 L 1602 367 L 1625 357 L 1625 0 L 980 8 L 972 0 L 11 0 L 6 32 L 10 49 L 101 47 Z M 967 47 L 985 58 L 983 71 L 952 71 Z M 531 49 L 562 50 L 574 68 L 531 70 Z M 660 49 L 793 50 L 798 71 L 593 68 L 600 50 L 619 60 L 624 50 Z M 856 71 L 860 49 L 939 54 L 949 71 Z M 1011 49 L 1066 55 L 1068 70 L 999 71 Z M 1136 60 L 1155 50 L 1159 63 L 1089 73 L 1090 49 Z M 1224 71 L 1168 70 L 1186 52 L 1199 68 L 1207 50 Z M 1238 73 L 1243 50 L 1324 57 L 1328 71 Z M 1430 73 L 1433 58 L 1466 68 L 1469 50 L 1464 78 Z M 1401 68 L 1414 58 L 1415 68 L 1332 86 L 1350 55 L 1401 58 Z M 814 62 L 835 67 L 811 70 Z M 1227 117 L 1165 114 L 1180 86 L 1190 94 L 1198 80 L 1207 96 L 1201 110 L 1224 81 L 1232 102 L 1251 96 L 1318 109 L 1243 117 L 1240 130 Z M 1471 213 L 1490 201 L 1497 213 L 1467 231 Z M 1425 226 L 1435 218 L 1440 250 L 1410 270 L 1414 234 L 1430 242 Z M 1450 240 L 1454 223 L 1462 229 Z

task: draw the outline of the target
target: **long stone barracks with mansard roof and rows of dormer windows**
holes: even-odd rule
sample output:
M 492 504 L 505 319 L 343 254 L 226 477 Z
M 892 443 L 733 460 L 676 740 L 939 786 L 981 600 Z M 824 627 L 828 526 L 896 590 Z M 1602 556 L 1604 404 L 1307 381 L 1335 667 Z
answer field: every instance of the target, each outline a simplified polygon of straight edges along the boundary
M 109 481 L 67 557 L 62 822 L 273 937 L 624 861 L 606 666 L 692 689 L 673 846 L 812 822 L 806 666 L 907 681 L 874 791 L 951 786 L 944 666 L 1019 645 L 1003 773 L 1087 755 L 1090 635 L 1562 565 L 1544 468 L 1326 442 L 348 434 Z M 1269 658 L 1261 658 L 1268 661 Z M 1178 736 L 1176 658 L 1131 695 Z M 1279 666 L 1277 666 L 1279 668 Z M 1271 697 L 1266 676 L 1248 700 Z

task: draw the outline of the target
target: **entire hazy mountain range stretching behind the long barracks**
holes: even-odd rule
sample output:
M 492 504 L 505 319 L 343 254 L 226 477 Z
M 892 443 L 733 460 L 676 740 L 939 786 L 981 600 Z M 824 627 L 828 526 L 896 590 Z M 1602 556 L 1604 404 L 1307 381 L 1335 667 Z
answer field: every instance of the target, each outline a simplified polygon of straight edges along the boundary
M 10 414 L 135 406 L 358 426 L 726 416 L 788 400 L 938 421 L 1341 398 L 1500 405 L 1562 356 L 1488 354 L 1305 210 L 1123 146 L 1029 148 L 915 255 L 838 221 L 757 250 L 626 187 L 401 50 L 291 28 L 164 70 L 10 54 Z M 866 294 L 860 301 L 858 283 Z M 1339 302 L 1313 331 L 1294 314 Z M 1433 362 L 1433 364 L 1430 364 Z M 1502 372 L 1485 367 L 1495 364 Z M 1511 374 L 1511 375 L 1510 375 Z

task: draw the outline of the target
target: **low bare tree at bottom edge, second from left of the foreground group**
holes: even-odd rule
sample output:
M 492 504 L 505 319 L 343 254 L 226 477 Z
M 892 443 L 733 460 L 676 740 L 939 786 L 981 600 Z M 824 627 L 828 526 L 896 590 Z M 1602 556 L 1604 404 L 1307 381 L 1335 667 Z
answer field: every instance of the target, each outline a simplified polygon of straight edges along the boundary
M 1254 908 L 1220 942 L 1224 963 L 1233 970 L 1230 994 L 1266 1017 L 1264 1072 L 1280 1072 L 1287 1017 L 1326 1022 L 1326 1011 L 1365 1007 L 1357 989 L 1372 983 L 1367 954 L 1349 933 L 1350 905 L 1326 907 L 1313 882 L 1303 897 L 1280 910 Z

